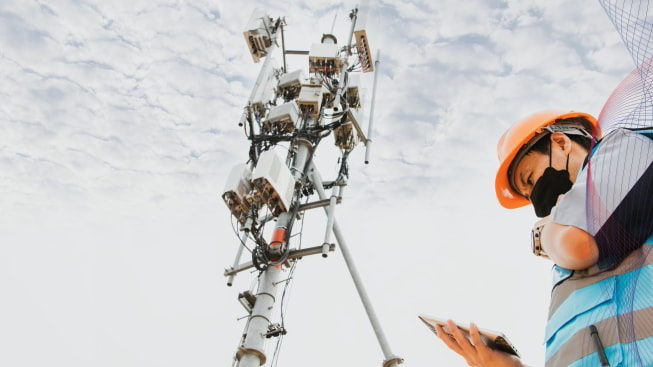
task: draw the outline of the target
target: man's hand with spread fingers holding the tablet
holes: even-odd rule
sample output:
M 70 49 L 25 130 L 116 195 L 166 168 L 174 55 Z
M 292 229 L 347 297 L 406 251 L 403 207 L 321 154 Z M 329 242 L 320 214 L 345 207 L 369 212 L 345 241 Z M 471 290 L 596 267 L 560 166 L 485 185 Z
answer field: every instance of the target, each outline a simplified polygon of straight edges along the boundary
M 472 336 L 472 343 L 463 335 L 458 326 L 451 320 L 448 321 L 449 330 L 452 331 L 454 338 L 450 337 L 440 325 L 435 328 L 438 332 L 438 337 L 454 352 L 460 354 L 467 364 L 470 366 L 478 367 L 522 367 L 524 366 L 519 358 L 504 353 L 498 350 L 489 348 L 481 340 L 481 334 L 478 332 L 478 327 L 471 324 L 470 333 Z

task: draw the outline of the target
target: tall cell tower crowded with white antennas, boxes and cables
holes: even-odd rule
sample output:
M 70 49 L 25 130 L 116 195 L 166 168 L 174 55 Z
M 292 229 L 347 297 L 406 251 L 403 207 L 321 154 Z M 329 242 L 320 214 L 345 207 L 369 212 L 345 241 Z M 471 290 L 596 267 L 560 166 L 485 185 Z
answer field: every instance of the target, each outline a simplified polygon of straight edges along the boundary
M 236 274 L 255 268 L 258 284 L 238 295 L 248 316 L 234 366 L 263 366 L 269 361 L 266 340 L 286 334 L 283 320 L 281 324 L 272 320 L 275 307 L 283 307 L 279 290 L 291 281 L 294 267 L 302 257 L 321 254 L 326 258 L 329 252 L 335 251 L 332 233 L 383 350 L 383 366 L 403 362 L 390 350 L 334 215 L 349 177 L 349 154 L 359 143 L 365 145 L 365 163 L 369 163 L 380 52 L 377 51 L 373 62 L 365 30 L 367 10 L 365 1 L 349 13 L 351 29 L 344 46 L 338 45 L 334 35 L 323 34 L 309 51 L 286 50 L 285 18 L 274 19 L 259 10 L 254 11 L 245 28 L 245 42 L 252 60 L 264 61 L 238 123 L 251 143 L 249 159 L 231 170 L 222 195 L 241 232 L 237 233 L 240 243 L 236 259 L 224 274 L 228 277 L 227 285 L 231 286 Z M 277 68 L 272 57 L 279 41 L 283 55 L 281 68 Z M 308 69 L 289 72 L 286 55 L 308 56 Z M 364 98 L 360 72 L 374 72 L 367 135 L 361 128 Z M 313 155 L 329 135 L 333 135 L 341 151 L 340 169 L 335 179 L 323 181 Z M 285 159 L 277 154 L 277 146 L 287 148 Z M 328 189 L 331 195 L 327 195 Z M 318 198 L 314 199 L 316 194 Z M 317 208 L 323 208 L 326 213 L 323 244 L 291 248 L 293 224 L 303 212 Z M 268 242 L 263 231 L 266 223 L 273 220 L 276 220 L 275 228 Z M 250 252 L 251 260 L 241 263 L 243 249 Z M 282 279 L 288 269 L 289 276 Z

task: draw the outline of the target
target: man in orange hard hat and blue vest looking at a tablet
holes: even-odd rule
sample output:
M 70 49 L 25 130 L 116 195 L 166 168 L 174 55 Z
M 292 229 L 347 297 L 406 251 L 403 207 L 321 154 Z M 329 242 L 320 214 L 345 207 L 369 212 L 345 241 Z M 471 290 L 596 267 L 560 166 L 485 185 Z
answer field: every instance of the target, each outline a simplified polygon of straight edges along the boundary
M 506 131 L 497 146 L 497 198 L 532 204 L 533 253 L 554 263 L 546 366 L 653 365 L 653 135 L 545 111 Z M 649 135 L 647 135 L 649 134 Z M 522 366 L 492 350 L 472 324 L 470 342 L 438 336 L 470 366 Z

